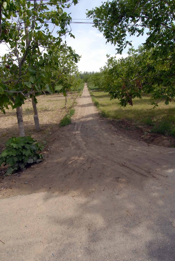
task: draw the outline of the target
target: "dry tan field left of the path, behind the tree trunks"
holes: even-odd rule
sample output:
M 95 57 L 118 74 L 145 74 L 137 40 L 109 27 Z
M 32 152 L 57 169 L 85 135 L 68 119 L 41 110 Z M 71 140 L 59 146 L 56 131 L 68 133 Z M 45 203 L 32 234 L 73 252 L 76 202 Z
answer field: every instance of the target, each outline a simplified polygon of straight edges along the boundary
M 41 131 L 35 131 L 33 120 L 32 102 L 26 101 L 23 108 L 23 123 L 25 135 L 31 135 L 37 141 L 47 141 L 49 135 L 59 128 L 61 119 L 66 115 L 71 106 L 75 103 L 78 94 L 68 96 L 67 108 L 64 108 L 65 97 L 62 94 L 49 94 L 37 97 L 37 109 L 40 121 Z M 18 123 L 16 118 L 16 110 L 6 110 L 6 114 L 0 114 L 0 150 L 4 147 L 4 143 L 12 136 L 18 136 Z

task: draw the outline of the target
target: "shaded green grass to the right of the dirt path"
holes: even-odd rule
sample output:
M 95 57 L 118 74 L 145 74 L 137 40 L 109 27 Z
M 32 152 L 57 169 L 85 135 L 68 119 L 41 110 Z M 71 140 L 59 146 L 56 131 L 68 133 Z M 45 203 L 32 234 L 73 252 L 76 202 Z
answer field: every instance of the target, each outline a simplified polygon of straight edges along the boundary
M 175 137 L 175 102 L 152 109 L 149 105 L 149 95 L 143 95 L 142 99 L 134 99 L 133 106 L 125 108 L 118 105 L 118 100 L 111 100 L 107 93 L 102 91 L 90 91 L 92 101 L 98 107 L 102 117 L 132 121 L 135 126 L 152 126 L 151 132 Z

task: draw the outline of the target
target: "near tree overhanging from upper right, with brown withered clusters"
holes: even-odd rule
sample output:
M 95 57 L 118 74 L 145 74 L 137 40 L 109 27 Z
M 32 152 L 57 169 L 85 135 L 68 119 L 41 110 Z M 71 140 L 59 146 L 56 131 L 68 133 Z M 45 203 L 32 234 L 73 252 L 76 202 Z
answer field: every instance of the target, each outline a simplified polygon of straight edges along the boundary
M 115 72 L 114 68 L 111 69 L 114 74 L 118 74 L 119 79 L 121 68 L 127 67 L 125 72 L 129 73 L 128 69 L 134 68 L 133 59 L 140 62 L 139 73 L 135 62 L 135 72 L 131 71 L 127 77 L 122 74 L 122 77 L 127 78 L 127 85 L 117 84 L 116 91 L 111 85 L 115 93 L 111 93 L 112 98 L 120 99 L 122 106 L 128 102 L 132 105 L 132 98 L 141 97 L 140 84 L 142 88 L 146 86 L 148 93 L 154 93 L 152 98 L 165 98 L 166 104 L 175 96 L 174 9 L 175 2 L 171 0 L 115 0 L 106 1 L 100 7 L 88 11 L 87 16 L 93 19 L 94 26 L 103 32 L 107 42 L 117 45 L 116 50 L 120 54 L 124 48 L 132 45 L 127 36 L 143 35 L 145 29 L 149 30 L 143 50 L 139 48 L 130 53 L 128 59 L 120 60 L 118 64 L 116 62 Z M 143 63 L 140 59 L 144 59 Z

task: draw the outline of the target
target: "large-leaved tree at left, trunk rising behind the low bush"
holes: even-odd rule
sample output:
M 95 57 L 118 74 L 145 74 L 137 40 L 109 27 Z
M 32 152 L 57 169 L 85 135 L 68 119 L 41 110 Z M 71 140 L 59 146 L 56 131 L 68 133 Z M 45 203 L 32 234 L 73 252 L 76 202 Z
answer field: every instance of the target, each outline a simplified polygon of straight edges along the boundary
M 36 93 L 52 92 L 52 68 L 60 67 L 55 49 L 65 47 L 62 35 L 69 33 L 71 17 L 63 11 L 78 0 L 1 0 L 0 44 L 7 44 L 10 52 L 2 57 L 0 67 L 0 110 L 11 105 L 16 108 L 19 133 L 24 136 L 22 104 Z M 58 27 L 57 37 L 53 27 Z M 75 57 L 75 61 L 77 57 Z

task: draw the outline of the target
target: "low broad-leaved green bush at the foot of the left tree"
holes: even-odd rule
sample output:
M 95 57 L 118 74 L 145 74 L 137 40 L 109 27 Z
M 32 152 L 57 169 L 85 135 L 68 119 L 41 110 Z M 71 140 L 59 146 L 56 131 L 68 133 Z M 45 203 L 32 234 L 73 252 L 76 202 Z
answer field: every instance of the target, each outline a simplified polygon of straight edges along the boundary
M 27 164 L 38 163 L 43 160 L 43 156 L 38 153 L 43 146 L 36 143 L 31 136 L 12 137 L 6 141 L 6 148 L 0 155 L 0 165 L 8 165 L 6 175 L 25 169 Z

